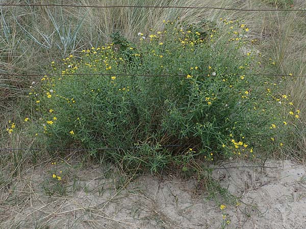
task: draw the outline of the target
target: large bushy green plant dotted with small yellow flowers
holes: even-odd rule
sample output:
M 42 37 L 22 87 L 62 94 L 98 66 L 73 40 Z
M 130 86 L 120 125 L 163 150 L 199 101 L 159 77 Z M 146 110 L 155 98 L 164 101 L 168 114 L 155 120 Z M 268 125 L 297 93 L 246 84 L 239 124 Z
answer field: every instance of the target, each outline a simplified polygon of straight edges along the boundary
M 279 93 L 284 80 L 261 75 L 261 54 L 245 51 L 253 42 L 245 24 L 221 21 L 210 33 L 164 21 L 162 31 L 140 32 L 139 43 L 114 34 L 114 43 L 52 62 L 30 93 L 33 134 L 49 148 L 103 152 L 150 171 L 282 147 L 299 117 Z

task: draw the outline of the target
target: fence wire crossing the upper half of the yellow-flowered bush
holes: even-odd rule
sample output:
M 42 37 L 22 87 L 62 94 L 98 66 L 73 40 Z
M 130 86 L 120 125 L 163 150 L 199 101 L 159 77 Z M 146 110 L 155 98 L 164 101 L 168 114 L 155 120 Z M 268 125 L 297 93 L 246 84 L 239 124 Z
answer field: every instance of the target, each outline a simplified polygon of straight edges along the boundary
M 170 76 L 177 76 L 177 77 L 186 77 L 187 74 L 119 74 L 119 73 L 67 73 L 67 74 L 2 74 L 0 76 L 69 76 L 69 75 L 89 75 L 89 76 L 148 76 L 148 77 L 170 77 Z M 306 75 L 281 75 L 281 74 L 251 74 L 251 73 L 232 73 L 226 75 L 227 77 L 235 77 L 235 76 L 275 76 L 275 77 L 306 77 Z M 196 74 L 194 76 L 208 76 L 202 74 Z M 2 80 L 2 79 L 0 79 Z M 8 80 L 8 79 L 6 79 Z M 15 80 L 15 79 L 14 79 Z

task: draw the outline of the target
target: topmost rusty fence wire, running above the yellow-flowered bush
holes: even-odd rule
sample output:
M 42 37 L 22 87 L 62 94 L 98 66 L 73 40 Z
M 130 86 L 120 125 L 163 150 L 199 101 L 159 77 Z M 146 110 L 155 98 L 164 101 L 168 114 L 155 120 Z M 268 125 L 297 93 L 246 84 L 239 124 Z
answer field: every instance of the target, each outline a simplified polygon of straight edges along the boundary
M 0 4 L 0 6 L 29 6 L 29 7 L 79 7 L 79 8 L 160 8 L 160 9 L 207 9 L 207 10 L 228 10 L 228 11 L 306 11 L 306 9 L 236 9 L 223 7 L 188 7 L 188 6 L 92 6 L 92 5 L 68 5 L 68 4 Z

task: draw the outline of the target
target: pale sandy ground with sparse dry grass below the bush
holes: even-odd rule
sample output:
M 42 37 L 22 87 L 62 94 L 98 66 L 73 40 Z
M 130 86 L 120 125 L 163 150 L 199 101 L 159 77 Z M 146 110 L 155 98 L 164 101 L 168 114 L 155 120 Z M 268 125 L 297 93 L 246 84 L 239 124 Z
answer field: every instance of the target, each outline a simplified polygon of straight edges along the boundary
M 306 228 L 303 165 L 228 161 L 213 177 L 128 177 L 100 166 L 41 164 L 1 181 L 0 228 Z M 51 184 L 66 193 L 47 195 Z

